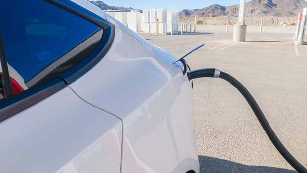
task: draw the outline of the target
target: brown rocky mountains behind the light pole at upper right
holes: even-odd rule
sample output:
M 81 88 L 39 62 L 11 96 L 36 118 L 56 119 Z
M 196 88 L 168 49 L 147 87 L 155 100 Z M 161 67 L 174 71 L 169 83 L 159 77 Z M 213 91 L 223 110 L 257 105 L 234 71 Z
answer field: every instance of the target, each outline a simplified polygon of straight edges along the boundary
M 245 16 L 290 17 L 296 16 L 304 7 L 307 7 L 307 2 L 304 0 L 252 0 L 245 4 Z M 185 9 L 179 12 L 179 16 L 237 16 L 238 13 L 239 5 L 221 6 L 215 4 L 202 9 Z

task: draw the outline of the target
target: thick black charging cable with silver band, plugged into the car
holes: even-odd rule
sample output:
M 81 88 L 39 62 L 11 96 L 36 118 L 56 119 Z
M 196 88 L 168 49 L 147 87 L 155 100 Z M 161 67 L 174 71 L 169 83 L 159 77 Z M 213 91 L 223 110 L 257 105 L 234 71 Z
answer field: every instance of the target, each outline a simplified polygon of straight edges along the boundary
M 188 78 L 194 79 L 194 78 L 199 78 L 200 76 L 217 77 L 216 75 L 214 75 L 216 72 L 217 70 L 213 71 L 212 69 L 201 69 L 201 70 L 191 71 L 188 72 Z M 269 139 L 271 140 L 275 148 L 278 150 L 278 152 L 286 159 L 286 161 L 299 173 L 307 173 L 307 169 L 291 155 L 291 153 L 278 139 L 275 132 L 272 130 L 271 126 L 269 125 L 269 122 L 266 119 L 265 115 L 258 106 L 256 100 L 249 93 L 249 91 L 238 80 L 236 80 L 227 73 L 220 72 L 218 77 L 229 82 L 232 86 L 238 89 L 239 92 L 244 96 L 244 98 L 252 108 L 253 112 L 255 113 L 262 128 L 267 133 Z

